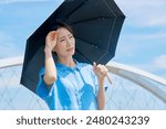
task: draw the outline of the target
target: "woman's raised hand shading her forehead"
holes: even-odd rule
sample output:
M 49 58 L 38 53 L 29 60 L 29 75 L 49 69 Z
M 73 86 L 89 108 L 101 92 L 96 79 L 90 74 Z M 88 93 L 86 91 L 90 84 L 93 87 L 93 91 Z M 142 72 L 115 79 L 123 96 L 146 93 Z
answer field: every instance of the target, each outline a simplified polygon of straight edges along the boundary
M 53 49 L 56 45 L 56 36 L 58 36 L 56 31 L 51 31 L 48 33 L 45 37 L 45 49 L 49 49 L 51 52 L 53 51 Z

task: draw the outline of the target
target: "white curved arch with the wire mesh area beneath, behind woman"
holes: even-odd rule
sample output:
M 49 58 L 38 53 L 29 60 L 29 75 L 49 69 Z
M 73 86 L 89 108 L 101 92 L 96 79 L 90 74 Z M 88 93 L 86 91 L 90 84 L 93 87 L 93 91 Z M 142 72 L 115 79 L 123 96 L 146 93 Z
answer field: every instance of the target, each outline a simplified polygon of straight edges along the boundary
M 0 60 L 0 109 L 48 109 L 37 95 L 20 85 L 23 57 Z M 166 109 L 166 80 L 147 72 L 111 62 L 112 86 L 105 109 Z

